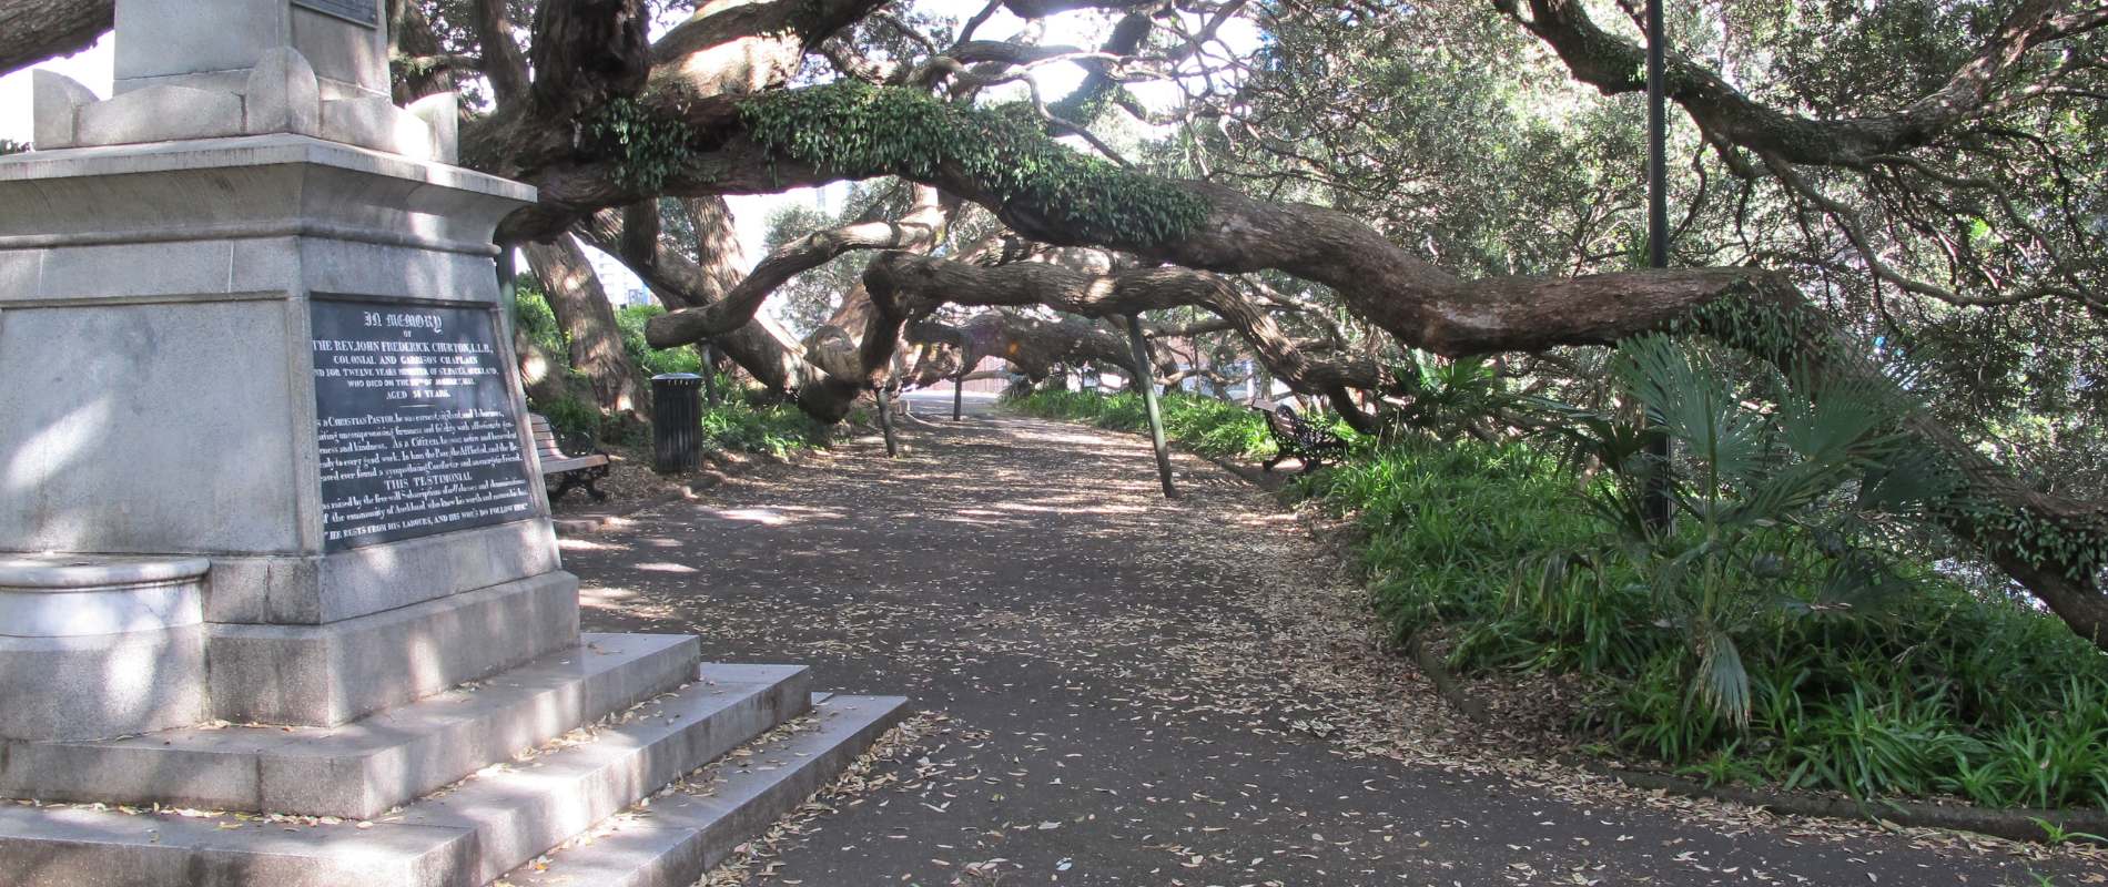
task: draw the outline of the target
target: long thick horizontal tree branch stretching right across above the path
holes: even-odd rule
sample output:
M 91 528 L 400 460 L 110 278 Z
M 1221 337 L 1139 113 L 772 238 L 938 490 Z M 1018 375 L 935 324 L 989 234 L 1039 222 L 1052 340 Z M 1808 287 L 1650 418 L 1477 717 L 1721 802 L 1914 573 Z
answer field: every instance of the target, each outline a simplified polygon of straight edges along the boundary
M 828 91 L 833 86 L 816 86 Z M 841 101 L 839 95 L 784 91 L 748 103 L 793 101 L 809 133 L 875 133 L 866 116 L 883 107 L 885 126 L 909 126 L 925 133 L 972 133 L 976 126 L 999 126 L 993 120 L 942 103 L 900 105 L 898 101 Z M 1790 377 L 1802 377 L 1821 388 L 1836 379 L 1863 381 L 1872 373 L 1863 350 L 1834 346 L 1834 324 L 1781 276 L 1760 270 L 1712 268 L 1682 272 L 1604 274 L 1585 278 L 1488 278 L 1459 280 L 1448 272 L 1406 253 L 1360 219 L 1313 204 L 1263 202 L 1229 188 L 1202 181 L 1172 181 L 1134 173 L 1090 171 L 1090 160 L 1060 160 L 1041 143 L 1014 141 L 1014 131 L 995 141 L 925 139 L 928 154 L 847 152 L 805 154 L 812 147 L 772 147 L 740 133 L 748 116 L 738 103 L 689 107 L 694 122 L 719 133 L 717 152 L 700 156 L 691 175 L 696 188 L 774 192 L 793 183 L 833 179 L 864 179 L 900 175 L 946 194 L 980 202 L 1010 228 L 1052 244 L 1094 244 L 1136 253 L 1155 261 L 1214 272 L 1280 270 L 1328 284 L 1360 318 L 1395 335 L 1406 346 L 1438 354 L 1484 354 L 1505 350 L 1545 350 L 1554 346 L 1615 343 L 1648 331 L 1697 331 L 1731 346 L 1745 348 L 1777 362 Z M 826 139 L 820 139 L 824 143 Z M 995 156 L 991 156 L 995 152 Z M 1001 156 L 1018 152 L 1018 156 Z M 824 164 L 824 169 L 822 169 Z M 1119 225 L 1105 221 L 1105 206 L 1077 202 L 1058 188 L 1008 177 L 1010 169 L 1037 166 L 1046 177 L 1098 181 L 1105 194 L 1147 206 L 1197 206 L 1197 219 L 1176 230 Z M 573 179 L 550 181 L 554 200 L 597 200 L 609 190 L 586 171 Z M 613 202 L 622 202 L 620 198 Z M 885 278 L 887 259 L 875 272 Z M 906 272 L 902 265 L 900 272 Z M 951 272 L 951 270 L 942 270 Z M 995 272 L 1008 272 L 997 268 Z M 1016 274 L 1016 272 L 1012 272 Z M 1113 293 L 1151 293 L 1187 289 L 1206 299 L 1212 284 L 1178 278 L 1174 272 L 1138 272 L 1115 280 Z M 1162 274 L 1162 278 L 1157 278 Z M 1143 284 L 1149 287 L 1143 287 Z M 898 287 L 915 291 L 915 287 Z M 940 291 L 940 289 L 932 289 Z M 1046 303 L 1069 310 L 1067 289 L 1041 289 L 1039 297 L 1010 303 Z M 877 373 L 887 367 L 900 327 L 911 320 L 911 305 L 877 297 L 858 341 L 862 367 Z M 1088 303 L 1073 303 L 1086 308 Z M 1107 310 L 1107 308 L 1100 308 Z M 1741 312 L 1758 312 L 1758 320 L 1737 322 Z M 1798 331 L 1777 335 L 1777 322 L 1792 318 Z M 1840 350 L 1842 348 L 1842 350 Z M 1265 348 L 1263 348 L 1265 356 Z M 1282 373 L 1284 377 L 1288 373 Z M 1336 398 L 1334 398 L 1336 400 Z M 1914 409 L 1910 432 L 1937 449 L 1969 478 L 1973 512 L 1941 516 L 1941 525 L 1982 546 L 1992 558 L 2009 563 L 2009 573 L 2028 582 L 2081 634 L 2108 645 L 2108 596 L 2097 588 L 2100 563 L 2108 548 L 2108 527 L 2089 506 L 2036 493 L 2009 472 L 1979 455 L 1952 428 L 1931 426 L 1922 409 Z M 2000 525 L 1982 516 L 2007 516 Z M 2000 529 L 2003 527 L 2003 529 Z M 2051 527 L 2068 539 L 2066 554 L 2028 548 L 2026 527 Z M 2074 560 L 2076 558 L 2076 560 Z M 2030 567 L 2032 565 L 2032 567 Z

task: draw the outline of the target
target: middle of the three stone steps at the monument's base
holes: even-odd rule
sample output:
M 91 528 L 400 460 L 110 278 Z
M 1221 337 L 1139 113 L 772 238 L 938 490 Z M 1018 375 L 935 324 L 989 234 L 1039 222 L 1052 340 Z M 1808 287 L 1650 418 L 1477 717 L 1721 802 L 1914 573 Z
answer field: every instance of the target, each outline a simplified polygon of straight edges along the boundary
M 19 887 L 485 885 L 807 706 L 803 666 L 704 666 L 590 737 L 358 824 L 0 807 L 0 872 Z

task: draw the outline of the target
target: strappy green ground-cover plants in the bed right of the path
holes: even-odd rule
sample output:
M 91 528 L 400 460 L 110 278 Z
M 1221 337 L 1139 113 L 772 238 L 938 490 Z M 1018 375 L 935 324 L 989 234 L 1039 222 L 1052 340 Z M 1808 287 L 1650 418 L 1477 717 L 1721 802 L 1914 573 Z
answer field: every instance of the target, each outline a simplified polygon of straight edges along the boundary
M 1377 607 L 1402 634 L 1452 634 L 1467 670 L 1579 674 L 1594 695 L 1577 729 L 1625 752 L 1866 799 L 2108 805 L 2108 657 L 2047 613 L 1927 573 L 1897 577 L 1912 594 L 1836 607 L 1840 563 L 1813 546 L 1745 546 L 1748 588 L 1716 590 L 1750 594 L 1739 607 L 1707 611 L 1691 590 L 1665 613 L 1655 560 L 1545 556 L 1604 531 L 1573 485 L 1526 442 L 1423 440 L 1307 491 L 1358 514 Z M 1695 634 L 1697 617 L 1714 628 Z M 1726 662 L 1748 678 L 1745 721 L 1693 681 Z

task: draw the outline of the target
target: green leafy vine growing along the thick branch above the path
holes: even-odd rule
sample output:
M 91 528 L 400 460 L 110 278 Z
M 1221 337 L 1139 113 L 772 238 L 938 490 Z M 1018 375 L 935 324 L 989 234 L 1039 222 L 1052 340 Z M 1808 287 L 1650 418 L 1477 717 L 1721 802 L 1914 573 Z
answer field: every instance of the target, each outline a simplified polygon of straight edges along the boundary
M 1210 213 L 1202 196 L 1067 150 L 1014 110 L 837 82 L 753 97 L 740 114 L 763 147 L 822 173 L 917 181 L 963 173 L 1003 206 L 1079 242 L 1149 249 L 1193 234 Z

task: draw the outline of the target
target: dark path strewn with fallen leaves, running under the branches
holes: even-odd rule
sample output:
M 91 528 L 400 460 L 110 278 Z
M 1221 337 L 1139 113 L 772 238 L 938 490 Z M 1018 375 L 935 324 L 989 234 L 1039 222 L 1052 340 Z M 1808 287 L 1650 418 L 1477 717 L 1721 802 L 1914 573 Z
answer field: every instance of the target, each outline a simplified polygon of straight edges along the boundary
M 936 712 L 759 845 L 755 883 L 2108 883 L 1497 754 L 1271 497 L 1180 457 L 1166 504 L 1145 440 L 944 407 L 902 428 L 904 459 L 858 440 L 565 544 L 590 630 L 694 632 Z

